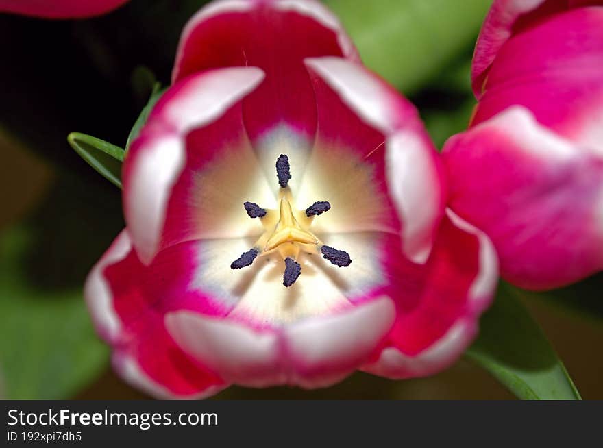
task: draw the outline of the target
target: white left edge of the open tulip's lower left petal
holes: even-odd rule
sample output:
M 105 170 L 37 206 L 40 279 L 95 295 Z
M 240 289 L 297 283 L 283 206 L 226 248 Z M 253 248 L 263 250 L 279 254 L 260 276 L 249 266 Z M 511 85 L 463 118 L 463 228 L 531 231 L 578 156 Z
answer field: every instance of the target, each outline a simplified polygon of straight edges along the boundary
M 95 328 L 108 343 L 113 343 L 119 337 L 121 321 L 113 308 L 113 295 L 103 271 L 107 266 L 123 260 L 131 250 L 130 236 L 124 229 L 93 266 L 84 284 L 84 298 Z

